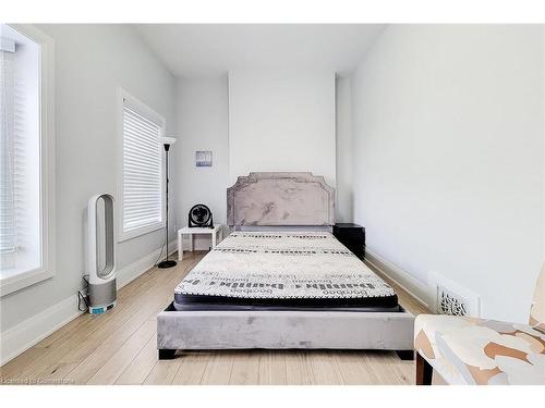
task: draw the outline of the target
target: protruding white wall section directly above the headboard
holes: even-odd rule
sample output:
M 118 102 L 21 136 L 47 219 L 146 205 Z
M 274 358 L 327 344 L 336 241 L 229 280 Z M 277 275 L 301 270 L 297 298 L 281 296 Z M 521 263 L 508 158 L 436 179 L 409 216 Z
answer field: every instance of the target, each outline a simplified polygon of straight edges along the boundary
M 335 186 L 332 72 L 230 72 L 230 182 L 257 171 L 310 171 Z

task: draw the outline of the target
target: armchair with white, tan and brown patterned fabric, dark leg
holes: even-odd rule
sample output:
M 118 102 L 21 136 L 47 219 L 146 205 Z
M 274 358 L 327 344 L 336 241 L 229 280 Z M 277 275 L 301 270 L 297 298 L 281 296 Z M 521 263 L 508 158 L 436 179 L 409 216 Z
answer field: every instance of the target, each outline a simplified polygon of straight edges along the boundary
M 448 384 L 545 384 L 545 264 L 529 323 L 420 314 L 416 384 L 432 384 L 434 370 Z

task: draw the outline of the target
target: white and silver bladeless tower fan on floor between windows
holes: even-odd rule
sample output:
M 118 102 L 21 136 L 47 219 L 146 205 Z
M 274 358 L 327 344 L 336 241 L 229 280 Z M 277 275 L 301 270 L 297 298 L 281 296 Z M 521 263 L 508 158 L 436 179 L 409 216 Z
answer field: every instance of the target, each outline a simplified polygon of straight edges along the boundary
M 113 197 L 99 194 L 87 206 L 87 273 L 89 313 L 104 313 L 116 306 L 116 226 Z

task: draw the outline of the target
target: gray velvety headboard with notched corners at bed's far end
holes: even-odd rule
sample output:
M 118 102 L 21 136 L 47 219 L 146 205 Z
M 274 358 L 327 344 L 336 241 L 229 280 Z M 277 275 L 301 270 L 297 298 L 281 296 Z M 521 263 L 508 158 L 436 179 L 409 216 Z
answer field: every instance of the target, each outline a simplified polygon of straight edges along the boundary
M 240 176 L 227 189 L 227 224 L 332 225 L 334 188 L 312 173 L 263 172 Z

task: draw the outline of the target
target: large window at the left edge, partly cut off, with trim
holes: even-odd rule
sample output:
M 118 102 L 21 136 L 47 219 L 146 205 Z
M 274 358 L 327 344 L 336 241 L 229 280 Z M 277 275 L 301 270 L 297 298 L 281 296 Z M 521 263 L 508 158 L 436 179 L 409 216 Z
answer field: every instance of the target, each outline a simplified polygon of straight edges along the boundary
M 52 42 L 0 24 L 0 292 L 53 275 Z

